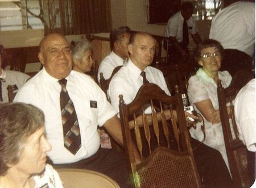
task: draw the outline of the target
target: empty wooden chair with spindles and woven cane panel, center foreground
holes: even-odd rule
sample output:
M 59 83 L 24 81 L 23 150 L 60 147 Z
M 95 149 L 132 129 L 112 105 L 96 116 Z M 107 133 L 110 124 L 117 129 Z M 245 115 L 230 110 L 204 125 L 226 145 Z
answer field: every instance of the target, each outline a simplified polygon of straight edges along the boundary
M 132 174 L 132 186 L 201 187 L 178 87 L 176 94 L 171 97 L 154 83 L 147 83 L 139 89 L 134 101 L 129 105 L 125 104 L 122 95 L 119 95 L 119 98 L 124 149 L 129 174 Z M 159 112 L 156 112 L 158 107 L 154 105 L 157 102 L 160 106 Z M 144 112 L 144 105 L 148 103 L 152 109 L 151 114 Z M 164 106 L 168 109 L 164 110 Z M 173 109 L 177 111 L 179 126 L 174 119 Z M 140 110 L 142 115 L 138 116 L 137 112 Z M 171 147 L 168 123 L 172 124 L 178 149 Z M 143 136 L 146 138 L 144 141 Z M 167 144 L 163 144 L 161 137 L 164 137 Z M 136 143 L 141 156 L 142 162 L 139 164 L 135 161 L 133 143 Z M 143 152 L 144 149 L 149 152 L 147 156 Z

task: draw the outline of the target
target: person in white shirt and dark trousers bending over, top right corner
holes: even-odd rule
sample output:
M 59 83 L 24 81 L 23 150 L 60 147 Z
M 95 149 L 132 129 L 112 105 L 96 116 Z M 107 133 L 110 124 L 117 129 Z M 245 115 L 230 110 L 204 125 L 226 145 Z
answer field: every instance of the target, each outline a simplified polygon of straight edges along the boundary
M 255 3 L 234 2 L 218 11 L 212 19 L 209 39 L 224 47 L 221 70 L 228 70 L 232 76 L 240 69 L 251 71 L 255 56 Z

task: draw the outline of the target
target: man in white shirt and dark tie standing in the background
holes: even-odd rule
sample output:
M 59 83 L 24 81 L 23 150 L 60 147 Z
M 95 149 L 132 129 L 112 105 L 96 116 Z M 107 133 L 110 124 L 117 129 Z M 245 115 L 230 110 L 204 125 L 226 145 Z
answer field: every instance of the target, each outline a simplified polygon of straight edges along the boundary
M 191 2 L 183 2 L 181 10 L 168 20 L 164 36 L 169 37 L 171 40 L 168 46 L 168 58 L 172 63 L 188 57 L 189 34 L 191 34 L 196 44 L 201 42 L 192 13 L 193 4 Z

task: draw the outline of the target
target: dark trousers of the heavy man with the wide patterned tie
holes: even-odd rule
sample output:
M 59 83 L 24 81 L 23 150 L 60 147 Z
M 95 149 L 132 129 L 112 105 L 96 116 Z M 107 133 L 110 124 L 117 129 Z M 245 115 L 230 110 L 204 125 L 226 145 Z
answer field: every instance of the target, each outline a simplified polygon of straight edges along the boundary
M 54 168 L 88 169 L 106 174 L 122 187 L 130 187 L 125 154 L 114 149 L 100 148 L 96 154 L 71 164 L 51 164 Z

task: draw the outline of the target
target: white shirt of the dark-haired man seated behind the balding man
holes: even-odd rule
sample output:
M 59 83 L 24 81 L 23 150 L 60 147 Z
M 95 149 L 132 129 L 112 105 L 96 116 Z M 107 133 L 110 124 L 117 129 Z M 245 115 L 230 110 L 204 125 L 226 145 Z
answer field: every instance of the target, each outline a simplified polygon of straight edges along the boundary
M 100 82 L 100 73 L 103 73 L 104 79 L 107 80 L 112 75 L 114 68 L 124 65 L 124 62 L 126 61 L 112 51 L 101 61 L 98 67 L 98 82 Z

